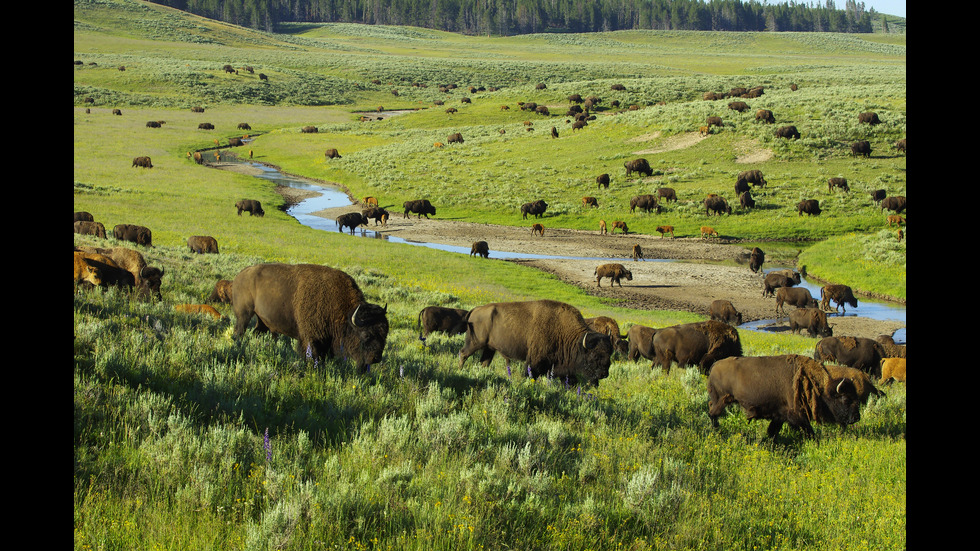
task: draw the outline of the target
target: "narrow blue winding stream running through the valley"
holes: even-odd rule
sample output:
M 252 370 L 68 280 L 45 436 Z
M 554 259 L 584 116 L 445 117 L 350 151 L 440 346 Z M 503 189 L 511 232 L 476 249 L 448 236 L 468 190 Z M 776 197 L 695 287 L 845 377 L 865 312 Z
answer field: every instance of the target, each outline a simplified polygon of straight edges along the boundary
M 257 177 L 264 180 L 268 180 L 278 185 L 289 186 L 296 189 L 315 191 L 320 195 L 310 197 L 292 207 L 290 207 L 286 212 L 290 216 L 296 218 L 301 224 L 309 226 L 313 229 L 324 230 L 324 231 L 337 231 L 337 225 L 334 220 L 329 218 L 324 218 L 322 216 L 315 216 L 312 213 L 319 212 L 324 209 L 345 207 L 351 205 L 350 198 L 341 190 L 331 187 L 325 187 L 318 183 L 313 183 L 302 178 L 297 178 L 293 176 L 285 175 L 278 170 L 271 168 L 269 166 L 263 165 L 261 163 L 254 163 L 250 161 L 244 161 L 234 158 L 234 153 L 227 152 L 227 155 L 222 155 L 222 161 L 230 162 L 245 162 L 252 167 L 258 169 L 260 173 Z M 453 245 L 443 245 L 439 243 L 423 243 L 418 241 L 410 241 L 400 237 L 393 237 L 389 235 L 383 235 L 371 229 L 364 229 L 359 232 L 360 235 L 369 238 L 385 239 L 393 243 L 405 243 L 409 245 L 417 245 L 422 247 L 429 247 L 433 249 L 439 249 L 443 251 L 450 251 L 456 253 L 462 253 L 468 255 L 470 253 L 469 247 L 459 247 Z M 609 258 L 609 259 L 599 259 L 599 258 L 583 258 L 583 257 L 563 257 L 563 256 L 548 256 L 548 255 L 538 255 L 538 254 L 525 254 L 525 253 L 515 253 L 507 251 L 494 250 L 494 258 L 497 259 L 533 259 L 533 258 L 569 258 L 575 260 L 609 260 L 618 261 L 621 258 Z M 647 259 L 650 260 L 650 259 Z M 664 262 L 670 262 L 669 260 L 663 260 Z M 767 269 L 776 270 L 780 269 L 780 266 L 775 266 Z M 820 296 L 820 285 L 810 283 L 804 279 L 799 287 L 804 287 L 810 291 L 810 294 L 819 297 Z M 852 310 L 853 311 L 853 310 Z M 879 301 L 869 298 L 861 298 L 859 311 L 860 315 L 865 318 L 877 319 L 877 320 L 895 320 L 905 323 L 906 321 L 906 308 L 904 305 Z M 852 314 L 849 314 L 852 315 Z M 739 329 L 752 329 L 752 330 L 765 330 L 765 327 L 771 325 L 775 320 L 757 320 L 753 322 L 747 322 L 739 326 Z M 903 327 L 895 332 L 894 339 L 896 343 L 906 344 L 906 329 Z

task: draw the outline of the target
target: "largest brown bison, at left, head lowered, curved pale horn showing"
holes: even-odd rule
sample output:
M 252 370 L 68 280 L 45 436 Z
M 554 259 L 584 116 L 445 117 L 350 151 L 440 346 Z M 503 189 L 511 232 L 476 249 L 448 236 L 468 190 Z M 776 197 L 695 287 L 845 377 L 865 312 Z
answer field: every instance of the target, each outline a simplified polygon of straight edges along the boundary
M 232 282 L 235 337 L 255 317 L 256 333 L 295 339 L 314 360 L 351 358 L 361 372 L 381 361 L 388 307 L 370 304 L 348 274 L 315 264 L 256 264 Z

